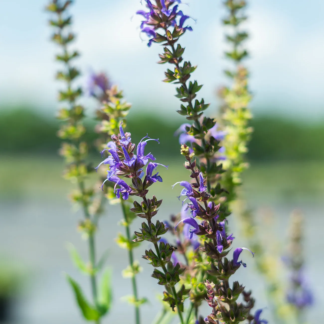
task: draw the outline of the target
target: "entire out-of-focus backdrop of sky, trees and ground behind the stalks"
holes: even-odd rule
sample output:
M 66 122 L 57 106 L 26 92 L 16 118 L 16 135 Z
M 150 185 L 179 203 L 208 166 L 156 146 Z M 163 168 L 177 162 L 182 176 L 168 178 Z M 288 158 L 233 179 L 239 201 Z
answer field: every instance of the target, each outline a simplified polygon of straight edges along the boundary
M 46 3 L 0 0 L 0 314 L 6 323 L 82 323 L 64 272 L 89 293 L 88 278 L 76 271 L 66 250 L 67 242 L 72 242 L 87 256 L 86 244 L 76 231 L 82 216 L 67 198 L 73 185 L 62 178 L 64 162 L 57 154 L 60 84 L 54 74 L 59 66 L 54 62 L 57 49 L 49 41 Z M 284 255 L 291 211 L 297 208 L 304 214 L 306 272 L 315 296 L 307 318 L 319 322 L 324 316 L 324 3 L 249 3 L 246 65 L 254 95 L 254 133 L 248 153 L 251 167 L 243 175 L 241 191 L 259 223 L 266 224 L 261 236 L 268 236 L 275 257 Z M 170 191 L 170 186 L 187 176 L 173 136 L 184 120 L 175 112 L 179 102 L 174 87 L 161 82 L 165 66 L 156 64 L 159 46 L 148 48 L 140 39 L 140 18 L 134 17 L 139 9 L 137 0 L 75 1 L 75 48 L 81 52 L 77 65 L 83 71 L 81 85 L 91 70 L 104 71 L 124 90 L 133 104 L 128 130 L 135 142 L 146 132 L 161 139 L 158 147 L 148 145 L 160 163 L 170 165 L 168 171 L 161 171 L 164 181 L 156 192 L 168 200 L 161 207 L 161 217 L 168 219 L 181 207 L 179 193 Z M 185 57 L 198 64 L 194 77 L 204 84 L 201 96 L 211 102 L 208 113 L 216 116 L 216 90 L 228 82 L 222 73 L 228 65 L 223 55 L 223 7 L 220 1 L 191 0 L 182 10 L 197 20 L 181 42 Z M 92 117 L 95 101 L 85 97 L 84 104 Z M 89 118 L 89 129 L 94 125 Z M 88 136 L 94 138 L 95 133 Z M 100 161 L 95 151 L 94 160 Z M 114 276 L 114 305 L 104 323 L 122 323 L 132 312 L 120 299 L 130 293 L 130 285 L 121 277 L 127 265 L 125 251 L 114 242 L 116 232 L 123 230 L 119 219 L 119 208 L 109 207 L 98 232 L 98 250 L 109 249 Z M 231 226 L 235 231 L 236 225 Z M 235 234 L 236 246 L 242 246 L 244 240 Z M 140 259 L 142 252 L 136 252 Z M 262 279 L 253 270 L 253 260 L 245 261 L 248 268 L 240 269 L 237 278 L 253 289 L 257 307 L 266 307 Z M 161 289 L 154 279 L 147 280 L 151 269 L 143 259 L 141 263 L 140 295 L 155 296 Z M 280 276 L 284 280 L 286 274 Z M 150 302 L 143 307 L 147 323 L 159 307 L 158 298 Z M 262 314 L 271 322 L 270 313 L 265 308 Z

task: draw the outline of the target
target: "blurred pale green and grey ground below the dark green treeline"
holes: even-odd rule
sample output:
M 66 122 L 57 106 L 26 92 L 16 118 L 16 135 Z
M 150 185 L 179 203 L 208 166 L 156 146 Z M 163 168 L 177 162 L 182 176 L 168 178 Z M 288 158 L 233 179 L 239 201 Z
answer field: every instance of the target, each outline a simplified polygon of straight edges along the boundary
M 176 198 L 179 188 L 172 191 L 171 185 L 188 175 L 181 168 L 182 161 L 169 161 L 169 164 L 168 170 L 160 171 L 163 183 L 156 185 L 159 190 L 153 192 L 158 198 L 164 198 L 158 214 L 160 219 L 168 219 L 170 214 L 179 211 L 181 203 Z M 76 231 L 82 214 L 66 198 L 73 185 L 62 179 L 62 169 L 63 162 L 53 158 L 7 157 L 0 160 L 0 255 L 10 259 L 24 274 L 15 304 L 16 319 L 10 324 L 83 323 L 64 272 L 75 278 L 90 296 L 88 278 L 78 273 L 66 250 L 67 242 L 71 242 L 87 260 L 87 244 Z M 307 318 L 310 323 L 319 323 L 324 317 L 321 307 L 324 304 L 321 289 L 324 286 L 321 270 L 324 167 L 320 162 L 252 165 L 244 175 L 244 183 L 241 191 L 258 217 L 260 237 L 270 250 L 276 251 L 275 256 L 284 253 L 289 214 L 295 208 L 303 212 L 307 275 L 315 294 L 315 305 Z M 261 212 L 261 207 L 271 213 Z M 124 323 L 129 315 L 133 316 L 133 309 L 121 300 L 122 296 L 131 293 L 129 279 L 121 276 L 121 270 L 127 266 L 126 251 L 114 242 L 116 233 L 123 231 L 118 225 L 121 213 L 119 206 L 108 208 L 99 222 L 97 248 L 98 255 L 109 249 L 107 264 L 113 269 L 114 303 L 103 323 Z M 229 222 L 236 237 L 234 247 L 246 246 L 240 238 L 236 218 L 230 216 Z M 140 223 L 137 219 L 133 230 Z M 157 294 L 162 292 L 162 287 L 150 277 L 151 266 L 141 259 L 144 248 L 145 244 L 137 248 L 135 255 L 144 268 L 138 277 L 139 295 L 151 297 L 149 304 L 142 308 L 143 323 L 148 324 L 160 309 Z M 256 307 L 267 307 L 265 285 L 254 270 L 254 259 L 248 254 L 242 254 L 242 258 L 248 267 L 239 269 L 236 278 L 253 290 L 257 297 Z M 286 274 L 282 271 L 281 275 L 285 278 Z M 270 313 L 267 307 L 264 318 L 274 323 Z

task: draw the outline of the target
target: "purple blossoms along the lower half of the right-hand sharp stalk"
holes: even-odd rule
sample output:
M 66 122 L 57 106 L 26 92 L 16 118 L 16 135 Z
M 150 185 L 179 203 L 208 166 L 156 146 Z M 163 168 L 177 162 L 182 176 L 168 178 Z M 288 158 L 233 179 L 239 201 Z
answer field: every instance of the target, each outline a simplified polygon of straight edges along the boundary
M 184 187 L 180 193 L 180 196 L 187 196 L 186 199 L 190 200 L 189 203 L 183 206 L 181 220 L 175 226 L 175 228 L 177 228 L 180 223 L 183 223 L 185 224 L 185 226 L 187 226 L 184 226 L 184 234 L 188 235 L 189 239 L 192 239 L 194 235 L 205 235 L 206 237 L 215 239 L 217 243 L 216 249 L 218 253 L 221 254 L 223 252 L 223 249 L 227 249 L 232 244 L 232 241 L 235 237 L 233 237 L 233 234 L 226 235 L 226 220 L 217 223 L 217 219 L 219 217 L 217 212 L 220 205 L 216 205 L 214 202 L 207 203 L 209 194 L 207 193 L 207 187 L 205 186 L 206 179 L 203 178 L 202 172 L 199 173 L 198 179 L 199 181 L 197 181 L 197 183 L 179 181 L 172 186 L 173 188 L 176 184 L 179 183 L 180 186 Z M 204 202 L 204 206 L 202 206 L 199 201 Z M 188 209 L 191 210 L 192 217 L 183 217 L 185 211 Z M 200 224 L 198 224 L 195 220 L 196 216 L 203 218 L 203 221 Z M 190 228 L 190 226 L 192 228 Z M 198 239 L 196 239 L 196 237 L 195 240 L 198 242 Z M 240 265 L 246 267 L 246 264 L 242 260 L 238 261 L 239 255 L 243 250 L 250 251 L 247 248 L 237 248 L 234 250 L 232 261 L 234 267 L 239 267 Z M 250 252 L 252 253 L 252 256 L 254 256 L 254 253 L 252 251 Z

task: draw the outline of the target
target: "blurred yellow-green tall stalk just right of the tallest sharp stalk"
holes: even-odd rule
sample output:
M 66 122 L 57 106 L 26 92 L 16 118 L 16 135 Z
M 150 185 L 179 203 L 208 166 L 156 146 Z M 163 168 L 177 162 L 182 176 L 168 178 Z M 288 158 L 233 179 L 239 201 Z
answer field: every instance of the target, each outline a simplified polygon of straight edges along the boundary
M 232 34 L 226 35 L 232 50 L 225 52 L 225 55 L 235 66 L 234 70 L 225 70 L 225 74 L 233 80 L 232 86 L 222 87 L 218 91 L 223 101 L 220 120 L 224 130 L 222 145 L 226 155 L 223 162 L 226 172 L 222 175 L 222 184 L 229 192 L 226 200 L 230 203 L 236 199 L 236 187 L 241 184 L 241 173 L 248 167 L 245 153 L 252 133 L 249 127 L 252 115 L 248 107 L 252 97 L 248 89 L 249 72 L 242 65 L 242 60 L 248 55 L 243 45 L 249 35 L 240 28 L 241 23 L 247 19 L 243 13 L 247 4 L 241 0 L 227 0 L 224 6 L 228 15 L 223 19 L 223 24 L 231 26 L 233 30 Z

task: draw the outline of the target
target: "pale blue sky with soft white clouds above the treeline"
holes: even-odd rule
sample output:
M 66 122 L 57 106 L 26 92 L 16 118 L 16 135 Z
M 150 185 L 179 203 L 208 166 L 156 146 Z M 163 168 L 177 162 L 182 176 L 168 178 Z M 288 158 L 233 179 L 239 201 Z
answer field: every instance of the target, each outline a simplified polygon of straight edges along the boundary
M 204 87 L 201 94 L 216 107 L 214 89 L 226 78 L 222 69 L 224 15 L 219 0 L 187 0 L 182 10 L 193 18 L 193 32 L 183 37 L 185 59 L 198 64 L 193 75 Z M 59 83 L 49 42 L 51 30 L 44 0 L 0 0 L 0 103 L 32 103 L 44 110 L 56 105 Z M 250 0 L 246 28 L 254 111 L 271 108 L 283 113 L 323 115 L 324 2 L 321 0 Z M 128 101 L 146 108 L 178 107 L 174 86 L 161 82 L 166 65 L 158 65 L 161 47 L 140 39 L 139 0 L 76 0 L 72 7 L 75 47 L 82 53 L 77 64 L 85 75 L 90 67 L 109 73 Z M 144 38 L 144 37 L 143 37 Z M 156 103 L 157 102 L 157 103 Z M 276 108 L 277 107 L 277 108 Z

